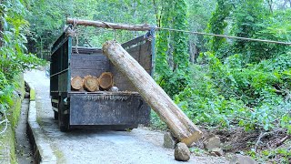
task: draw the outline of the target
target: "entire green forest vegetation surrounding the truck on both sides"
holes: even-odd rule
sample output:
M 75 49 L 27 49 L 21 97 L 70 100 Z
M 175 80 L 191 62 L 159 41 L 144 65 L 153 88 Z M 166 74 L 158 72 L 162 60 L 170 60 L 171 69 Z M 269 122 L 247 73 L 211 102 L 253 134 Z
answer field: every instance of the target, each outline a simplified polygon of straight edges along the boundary
M 0 5 L 0 113 L 16 75 L 49 58 L 65 17 L 291 42 L 289 0 L 7 0 Z M 75 46 L 143 33 L 77 27 Z M 291 159 L 291 46 L 185 32 L 156 32 L 156 82 L 224 151 L 259 162 Z M 166 125 L 152 114 L 152 127 Z M 241 139 L 236 139 L 241 138 Z

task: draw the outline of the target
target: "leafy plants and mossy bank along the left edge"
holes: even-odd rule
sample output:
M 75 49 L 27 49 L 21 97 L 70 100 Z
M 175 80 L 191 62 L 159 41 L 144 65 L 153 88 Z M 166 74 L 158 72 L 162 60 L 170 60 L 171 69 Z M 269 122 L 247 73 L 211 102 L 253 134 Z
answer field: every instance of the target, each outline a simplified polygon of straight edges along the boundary
M 16 163 L 14 128 L 25 94 L 22 73 L 45 62 L 27 51 L 29 23 L 25 2 L 0 4 L 0 161 Z

